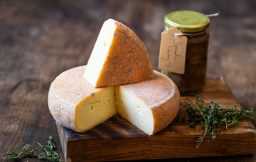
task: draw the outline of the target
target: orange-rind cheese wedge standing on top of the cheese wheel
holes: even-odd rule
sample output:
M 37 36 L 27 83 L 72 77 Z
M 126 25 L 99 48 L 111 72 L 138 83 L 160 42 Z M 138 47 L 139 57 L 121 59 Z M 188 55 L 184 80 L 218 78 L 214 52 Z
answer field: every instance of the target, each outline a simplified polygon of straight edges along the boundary
M 126 25 L 109 19 L 97 37 L 83 77 L 94 87 L 154 78 L 149 52 Z

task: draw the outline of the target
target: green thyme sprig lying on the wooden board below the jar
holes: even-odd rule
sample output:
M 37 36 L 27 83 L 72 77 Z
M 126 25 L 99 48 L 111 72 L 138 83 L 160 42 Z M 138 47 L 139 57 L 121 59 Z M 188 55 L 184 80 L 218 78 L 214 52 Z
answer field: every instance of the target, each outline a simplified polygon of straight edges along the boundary
M 211 139 L 216 138 L 216 132 L 221 132 L 223 134 L 223 129 L 228 131 L 228 127 L 233 125 L 238 125 L 242 116 L 247 116 L 253 118 L 253 111 L 245 110 L 244 108 L 237 109 L 236 105 L 233 105 L 233 108 L 220 108 L 220 105 L 210 101 L 208 105 L 205 105 L 203 98 L 196 96 L 196 105 L 188 104 L 188 111 L 190 116 L 188 121 L 191 122 L 190 127 L 196 127 L 196 122 L 201 121 L 203 132 L 198 139 L 196 140 L 196 149 L 203 142 L 203 139 L 208 137 L 210 134 Z M 183 119 L 185 120 L 185 119 Z M 181 119 L 177 120 L 180 122 Z M 220 135 L 221 135 L 220 134 Z M 208 142 L 210 148 L 210 144 Z M 210 149 L 211 150 L 211 149 Z

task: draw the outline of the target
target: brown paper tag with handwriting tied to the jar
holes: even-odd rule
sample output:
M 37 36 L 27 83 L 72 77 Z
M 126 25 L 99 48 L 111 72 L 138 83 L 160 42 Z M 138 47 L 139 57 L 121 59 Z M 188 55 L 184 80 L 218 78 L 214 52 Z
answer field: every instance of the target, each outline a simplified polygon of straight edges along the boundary
M 185 73 L 186 36 L 176 36 L 182 33 L 178 28 L 170 28 L 161 33 L 161 44 L 159 52 L 159 69 L 171 71 L 177 74 Z

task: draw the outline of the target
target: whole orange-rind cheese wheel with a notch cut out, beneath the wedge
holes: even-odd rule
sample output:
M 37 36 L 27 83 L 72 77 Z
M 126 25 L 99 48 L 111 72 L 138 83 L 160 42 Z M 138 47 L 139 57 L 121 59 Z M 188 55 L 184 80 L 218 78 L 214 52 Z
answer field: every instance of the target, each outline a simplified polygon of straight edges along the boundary
M 149 81 L 94 88 L 82 77 L 86 68 L 65 71 L 50 86 L 49 110 L 64 127 L 85 132 L 118 113 L 151 135 L 176 117 L 180 95 L 164 74 L 154 71 Z

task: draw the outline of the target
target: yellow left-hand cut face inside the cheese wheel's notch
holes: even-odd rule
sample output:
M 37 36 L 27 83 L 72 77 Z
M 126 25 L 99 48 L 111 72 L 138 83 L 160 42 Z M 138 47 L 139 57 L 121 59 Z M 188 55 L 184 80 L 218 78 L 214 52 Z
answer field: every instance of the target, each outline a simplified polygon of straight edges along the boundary
M 114 86 L 107 86 L 84 98 L 75 109 L 75 126 L 79 132 L 85 132 L 116 115 L 114 103 Z

